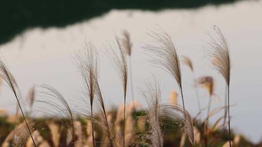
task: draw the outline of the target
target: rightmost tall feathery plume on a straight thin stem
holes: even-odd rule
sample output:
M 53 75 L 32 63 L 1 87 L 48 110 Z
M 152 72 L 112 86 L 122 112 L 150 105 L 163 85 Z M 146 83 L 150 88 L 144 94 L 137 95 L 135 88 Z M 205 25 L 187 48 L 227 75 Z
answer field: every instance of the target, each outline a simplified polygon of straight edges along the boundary
M 215 31 L 215 35 L 208 34 L 212 39 L 212 42 L 209 44 L 211 51 L 208 52 L 209 59 L 213 64 L 213 68 L 220 73 L 226 83 L 227 83 L 227 90 L 228 90 L 228 118 L 230 118 L 229 112 L 229 85 L 230 85 L 230 69 L 231 69 L 231 60 L 230 60 L 230 53 L 229 53 L 229 44 L 222 33 L 222 31 L 217 27 L 213 27 Z M 231 139 L 231 132 L 230 132 L 230 120 L 229 120 L 229 136 Z M 229 146 L 231 147 L 231 140 L 229 139 Z

